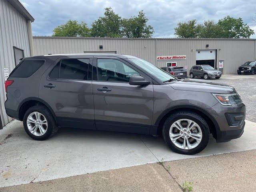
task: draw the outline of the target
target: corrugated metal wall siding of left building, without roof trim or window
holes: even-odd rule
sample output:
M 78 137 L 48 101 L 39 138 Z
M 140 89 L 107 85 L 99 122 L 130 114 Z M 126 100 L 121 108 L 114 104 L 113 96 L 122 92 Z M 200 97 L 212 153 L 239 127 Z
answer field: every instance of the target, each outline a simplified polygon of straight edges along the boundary
M 26 57 L 30 56 L 28 21 L 7 0 L 0 0 L 0 115 L 3 125 L 11 120 L 4 108 L 3 68 L 8 67 L 10 73 L 15 67 L 13 46 L 24 50 Z

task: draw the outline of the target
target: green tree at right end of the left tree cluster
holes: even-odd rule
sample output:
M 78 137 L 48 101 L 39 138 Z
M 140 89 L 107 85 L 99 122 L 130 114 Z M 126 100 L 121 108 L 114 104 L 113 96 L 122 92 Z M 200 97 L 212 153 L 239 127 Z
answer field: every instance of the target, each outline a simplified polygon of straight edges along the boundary
M 154 29 L 152 26 L 147 25 L 148 18 L 141 10 L 138 16 L 133 16 L 129 19 L 122 19 L 122 36 L 127 38 L 151 38 Z

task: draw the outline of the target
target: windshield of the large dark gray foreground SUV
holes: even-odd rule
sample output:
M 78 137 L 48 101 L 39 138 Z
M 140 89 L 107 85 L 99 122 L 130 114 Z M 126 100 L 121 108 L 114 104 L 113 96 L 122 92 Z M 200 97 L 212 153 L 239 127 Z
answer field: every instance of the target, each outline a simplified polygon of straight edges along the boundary
M 154 66 L 152 63 L 140 59 L 140 58 L 128 58 L 128 60 L 134 62 L 138 66 L 142 67 L 144 70 L 146 70 L 148 73 L 152 74 L 156 78 L 160 79 L 161 81 L 167 81 L 169 79 L 176 79 L 171 74 L 165 72 L 164 70 Z

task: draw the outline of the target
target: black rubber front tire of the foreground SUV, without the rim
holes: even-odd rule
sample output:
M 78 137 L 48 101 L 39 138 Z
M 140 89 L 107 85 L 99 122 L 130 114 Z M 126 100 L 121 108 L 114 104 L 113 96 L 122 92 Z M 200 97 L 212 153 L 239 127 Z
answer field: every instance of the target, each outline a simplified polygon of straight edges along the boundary
M 178 146 L 176 146 L 170 139 L 169 136 L 169 131 L 170 131 L 170 127 L 171 125 L 179 120 L 179 119 L 189 119 L 189 120 L 193 120 L 194 122 L 196 122 L 201 130 L 202 130 L 202 140 L 201 142 L 198 144 L 198 146 L 196 146 L 195 148 L 192 148 L 190 150 L 184 150 L 179 148 Z M 209 126 L 206 123 L 206 121 L 204 120 L 204 118 L 202 118 L 200 115 L 198 115 L 197 113 L 194 112 L 185 112 L 185 111 L 181 111 L 181 112 L 176 112 L 174 114 L 172 114 L 169 118 L 166 119 L 166 121 L 164 122 L 163 125 L 163 138 L 164 141 L 166 142 L 166 144 L 168 144 L 168 146 L 177 153 L 180 154 L 186 154 L 186 155 L 192 155 L 192 154 L 196 154 L 201 152 L 202 150 L 204 150 L 204 148 L 207 146 L 208 141 L 209 141 L 209 137 L 210 137 L 210 130 L 209 130 Z

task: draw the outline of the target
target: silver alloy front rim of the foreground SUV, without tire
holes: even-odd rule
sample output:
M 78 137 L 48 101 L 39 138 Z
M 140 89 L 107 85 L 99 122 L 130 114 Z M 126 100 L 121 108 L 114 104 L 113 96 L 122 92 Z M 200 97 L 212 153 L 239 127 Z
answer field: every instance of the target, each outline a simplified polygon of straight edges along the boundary
M 180 149 L 190 150 L 200 144 L 202 130 L 193 120 L 180 119 L 171 125 L 169 136 L 175 146 Z

